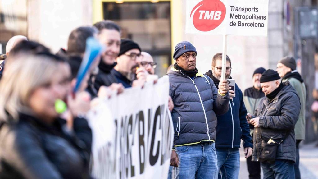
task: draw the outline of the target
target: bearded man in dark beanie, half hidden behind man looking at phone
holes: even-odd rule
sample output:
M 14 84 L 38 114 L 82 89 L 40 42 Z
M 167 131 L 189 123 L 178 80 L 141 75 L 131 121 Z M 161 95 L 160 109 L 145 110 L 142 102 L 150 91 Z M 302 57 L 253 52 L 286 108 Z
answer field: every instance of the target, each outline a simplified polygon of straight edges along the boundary
M 265 97 L 260 85 L 260 77 L 266 71 L 265 68 L 259 67 L 253 73 L 253 87 L 247 88 L 244 91 L 244 104 L 248 113 L 253 114 L 256 110 L 259 102 Z M 250 126 L 250 134 L 253 136 L 254 125 L 247 120 Z M 252 156 L 246 158 L 247 170 L 250 179 L 260 179 L 260 163 L 258 161 L 252 161 Z

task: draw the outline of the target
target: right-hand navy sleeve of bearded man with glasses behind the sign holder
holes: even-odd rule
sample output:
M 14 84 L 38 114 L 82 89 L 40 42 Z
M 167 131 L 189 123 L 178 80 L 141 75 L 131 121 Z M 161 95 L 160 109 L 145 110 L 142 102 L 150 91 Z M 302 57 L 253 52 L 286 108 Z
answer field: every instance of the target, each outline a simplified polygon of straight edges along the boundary
M 237 91 L 239 92 L 240 97 L 241 97 L 241 99 L 240 99 L 241 104 L 240 104 L 240 109 L 239 109 L 239 120 L 240 120 L 241 129 L 242 129 L 242 140 L 244 141 L 243 147 L 244 148 L 246 148 L 246 147 L 253 148 L 252 136 L 250 134 L 250 127 L 249 127 L 247 120 L 246 120 L 247 110 L 245 108 L 245 104 L 243 101 L 243 93 L 239 88 Z

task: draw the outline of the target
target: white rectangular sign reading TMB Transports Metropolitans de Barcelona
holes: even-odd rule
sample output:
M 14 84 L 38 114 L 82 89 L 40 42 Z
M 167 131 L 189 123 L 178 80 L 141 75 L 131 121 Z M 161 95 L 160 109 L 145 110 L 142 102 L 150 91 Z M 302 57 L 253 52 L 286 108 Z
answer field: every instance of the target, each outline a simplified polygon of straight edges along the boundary
M 267 36 L 268 0 L 187 0 L 186 33 Z

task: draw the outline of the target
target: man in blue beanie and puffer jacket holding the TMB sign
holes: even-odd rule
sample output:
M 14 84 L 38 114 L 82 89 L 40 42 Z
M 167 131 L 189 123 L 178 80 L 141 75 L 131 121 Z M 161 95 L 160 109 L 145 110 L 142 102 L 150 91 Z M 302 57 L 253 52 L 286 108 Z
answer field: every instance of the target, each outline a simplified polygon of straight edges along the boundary
M 210 77 L 197 70 L 197 51 L 190 42 L 178 43 L 173 57 L 176 63 L 167 74 L 175 105 L 170 165 L 177 179 L 217 178 L 216 115 L 229 109 L 229 85 L 223 80 L 218 90 Z

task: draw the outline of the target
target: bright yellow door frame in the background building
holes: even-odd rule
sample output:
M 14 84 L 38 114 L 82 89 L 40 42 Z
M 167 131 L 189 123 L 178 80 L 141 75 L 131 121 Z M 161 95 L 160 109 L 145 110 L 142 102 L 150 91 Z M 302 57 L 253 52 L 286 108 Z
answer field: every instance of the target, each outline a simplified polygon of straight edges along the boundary
M 93 23 L 103 20 L 103 3 L 124 3 L 124 2 L 170 2 L 170 14 L 171 14 L 171 54 L 174 52 L 174 46 L 182 40 L 183 30 L 178 30 L 178 27 L 182 27 L 182 0 L 93 0 Z M 174 63 L 171 58 L 171 63 Z

